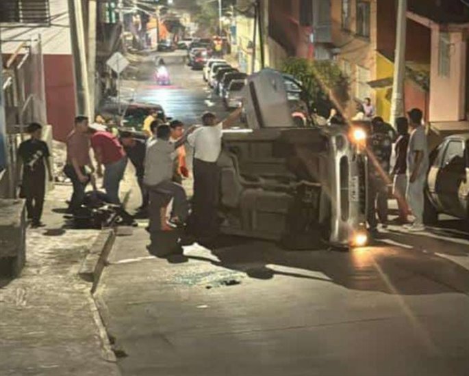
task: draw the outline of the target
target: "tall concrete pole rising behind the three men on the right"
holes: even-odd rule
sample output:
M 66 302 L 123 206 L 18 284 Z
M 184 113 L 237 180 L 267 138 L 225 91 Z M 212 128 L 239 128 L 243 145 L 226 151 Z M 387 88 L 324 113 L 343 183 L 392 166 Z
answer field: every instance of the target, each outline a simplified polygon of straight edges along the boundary
M 394 53 L 394 81 L 392 86 L 391 119 L 392 126 L 396 118 L 404 114 L 405 84 L 405 37 L 407 36 L 407 0 L 399 0 L 396 27 L 396 51 Z

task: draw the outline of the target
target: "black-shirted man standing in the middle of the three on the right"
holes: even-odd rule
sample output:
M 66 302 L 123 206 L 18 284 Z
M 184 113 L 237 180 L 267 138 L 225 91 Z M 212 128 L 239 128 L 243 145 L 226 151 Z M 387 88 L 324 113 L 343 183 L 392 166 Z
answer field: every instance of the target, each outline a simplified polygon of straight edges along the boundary
M 409 206 L 405 201 L 405 191 L 407 190 L 407 147 L 409 145 L 409 122 L 407 118 L 396 118 L 396 129 L 398 137 L 394 144 L 394 154 L 396 161 L 392 169 L 394 181 L 392 185 L 392 194 L 397 199 L 399 210 L 398 221 L 400 224 L 407 224 L 407 215 Z

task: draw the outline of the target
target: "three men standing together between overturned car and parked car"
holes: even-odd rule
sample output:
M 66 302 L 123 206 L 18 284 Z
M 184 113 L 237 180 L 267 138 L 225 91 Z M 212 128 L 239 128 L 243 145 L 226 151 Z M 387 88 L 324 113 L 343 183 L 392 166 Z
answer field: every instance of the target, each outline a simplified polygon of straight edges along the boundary
M 372 109 L 368 109 L 372 115 Z M 368 137 L 368 226 L 377 230 L 379 222 L 388 226 L 388 185 L 398 202 L 398 223 L 409 231 L 424 230 L 424 188 L 429 168 L 427 135 L 422 111 L 411 109 L 407 117 L 396 118 L 395 128 L 380 117 L 370 122 Z M 394 167 L 391 169 L 392 146 Z M 409 215 L 414 221 L 409 223 Z

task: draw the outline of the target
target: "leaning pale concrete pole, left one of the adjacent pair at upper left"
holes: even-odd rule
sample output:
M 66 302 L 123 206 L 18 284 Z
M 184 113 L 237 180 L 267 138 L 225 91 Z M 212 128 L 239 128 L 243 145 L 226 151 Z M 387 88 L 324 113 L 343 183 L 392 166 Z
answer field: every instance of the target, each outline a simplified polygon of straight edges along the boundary
M 70 33 L 72 39 L 73 65 L 75 70 L 75 92 L 77 113 L 90 116 L 90 90 L 88 88 L 88 64 L 83 26 L 81 0 L 68 0 Z

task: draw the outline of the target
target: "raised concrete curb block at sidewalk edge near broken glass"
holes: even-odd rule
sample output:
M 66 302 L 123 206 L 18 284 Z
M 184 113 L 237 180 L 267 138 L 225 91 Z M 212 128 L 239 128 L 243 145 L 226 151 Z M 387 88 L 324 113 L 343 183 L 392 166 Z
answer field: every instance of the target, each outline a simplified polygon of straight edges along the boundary
M 84 280 L 92 282 L 91 293 L 94 293 L 97 288 L 107 256 L 109 256 L 115 239 L 116 233 L 114 230 L 101 230 L 90 252 L 81 263 L 78 274 Z

